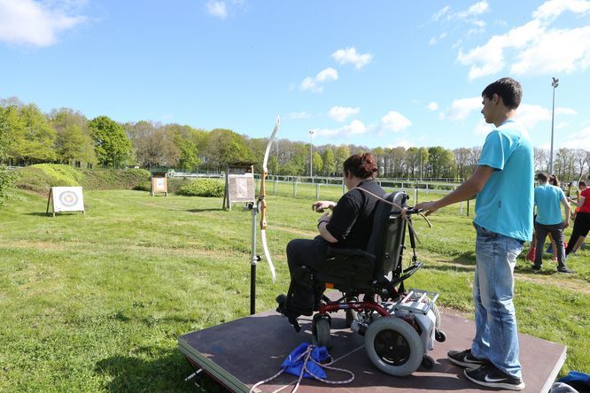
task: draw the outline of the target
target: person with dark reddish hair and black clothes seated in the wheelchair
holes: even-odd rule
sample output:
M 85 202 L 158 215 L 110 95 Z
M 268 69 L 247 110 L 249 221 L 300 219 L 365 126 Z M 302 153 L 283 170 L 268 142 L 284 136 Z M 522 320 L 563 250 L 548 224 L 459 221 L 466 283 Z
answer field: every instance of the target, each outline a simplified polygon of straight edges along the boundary
M 312 204 L 314 212 L 325 212 L 318 219 L 319 235 L 314 239 L 294 239 L 287 244 L 287 263 L 291 274 L 292 296 L 289 304 L 279 302 L 278 312 L 282 312 L 296 327 L 299 315 L 312 315 L 314 305 L 322 297 L 324 286 L 310 289 L 298 281 L 301 266 L 318 270 L 326 260 L 328 247 L 350 247 L 366 250 L 373 216 L 378 199 L 362 191 L 365 189 L 377 196 L 384 196 L 384 189 L 375 181 L 377 164 L 369 153 L 355 154 L 343 164 L 344 184 L 348 192 L 338 203 L 317 201 Z M 277 297 L 277 301 L 280 297 Z

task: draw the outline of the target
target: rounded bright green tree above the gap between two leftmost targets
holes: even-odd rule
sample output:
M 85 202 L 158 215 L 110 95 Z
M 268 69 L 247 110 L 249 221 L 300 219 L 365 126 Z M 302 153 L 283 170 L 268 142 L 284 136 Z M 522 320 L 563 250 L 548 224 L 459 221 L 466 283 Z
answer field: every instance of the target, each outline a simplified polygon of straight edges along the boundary
M 113 119 L 98 116 L 89 122 L 97 160 L 104 167 L 123 165 L 131 158 L 133 148 L 125 130 Z

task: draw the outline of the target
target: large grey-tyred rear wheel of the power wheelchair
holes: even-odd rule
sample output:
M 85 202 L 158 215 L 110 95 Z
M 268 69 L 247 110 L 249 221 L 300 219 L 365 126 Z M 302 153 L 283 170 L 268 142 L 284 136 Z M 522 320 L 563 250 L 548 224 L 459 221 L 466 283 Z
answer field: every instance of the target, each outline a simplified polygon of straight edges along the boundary
M 424 343 L 405 320 L 382 317 L 369 325 L 365 349 L 378 369 L 394 376 L 406 376 L 422 364 Z

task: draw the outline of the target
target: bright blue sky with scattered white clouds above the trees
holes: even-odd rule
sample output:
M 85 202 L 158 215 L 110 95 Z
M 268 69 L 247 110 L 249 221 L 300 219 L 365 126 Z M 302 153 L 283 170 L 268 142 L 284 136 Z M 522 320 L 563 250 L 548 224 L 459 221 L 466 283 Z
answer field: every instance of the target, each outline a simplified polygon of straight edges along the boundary
M 590 1 L 0 0 L 0 97 L 89 119 L 314 144 L 483 144 L 481 91 L 521 81 L 548 148 L 590 150 Z

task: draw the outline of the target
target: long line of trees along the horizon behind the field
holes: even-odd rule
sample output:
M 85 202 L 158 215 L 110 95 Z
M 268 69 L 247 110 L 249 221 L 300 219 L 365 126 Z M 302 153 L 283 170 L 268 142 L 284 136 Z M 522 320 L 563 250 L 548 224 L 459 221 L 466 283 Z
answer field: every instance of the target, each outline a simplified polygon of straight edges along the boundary
M 260 170 L 267 143 L 267 138 L 251 138 L 224 128 L 208 131 L 152 121 L 119 123 L 107 116 L 87 119 L 70 108 L 43 113 L 37 105 L 24 104 L 15 97 L 0 100 L 0 162 L 8 165 L 63 163 L 219 173 L 229 163 L 252 162 Z M 369 149 L 353 144 L 310 146 L 279 139 L 271 150 L 268 172 L 303 176 L 311 169 L 314 175 L 339 176 L 344 160 L 361 151 L 376 156 L 381 177 L 464 179 L 477 166 L 481 147 Z M 547 171 L 549 152 L 535 148 L 534 158 L 535 169 Z M 556 151 L 554 172 L 562 179 L 578 179 L 588 166 L 590 151 Z

